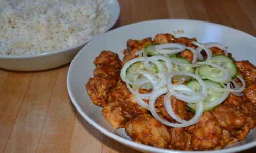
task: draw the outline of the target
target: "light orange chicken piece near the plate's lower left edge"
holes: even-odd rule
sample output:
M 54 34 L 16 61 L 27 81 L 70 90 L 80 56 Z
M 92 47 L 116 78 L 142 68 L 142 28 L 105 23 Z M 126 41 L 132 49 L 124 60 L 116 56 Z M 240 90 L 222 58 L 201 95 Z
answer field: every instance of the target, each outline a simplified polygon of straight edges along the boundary
M 122 105 L 120 105 L 118 99 L 105 105 L 102 109 L 102 114 L 115 129 L 124 128 L 128 121 L 122 115 Z

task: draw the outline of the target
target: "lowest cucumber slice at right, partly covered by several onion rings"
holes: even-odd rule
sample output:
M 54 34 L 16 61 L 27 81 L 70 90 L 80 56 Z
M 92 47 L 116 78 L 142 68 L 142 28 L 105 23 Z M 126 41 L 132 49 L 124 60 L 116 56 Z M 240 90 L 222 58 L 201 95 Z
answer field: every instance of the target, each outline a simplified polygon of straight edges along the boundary
M 208 79 L 203 80 L 206 84 L 210 84 L 212 86 L 215 86 L 217 88 L 224 88 L 220 83 L 214 82 Z M 197 80 L 191 80 L 186 84 L 190 89 L 192 89 L 194 92 L 200 92 L 202 90 L 200 83 Z M 208 96 L 207 98 L 203 101 L 203 105 L 209 104 L 211 102 L 214 102 L 216 99 L 222 96 L 224 92 L 215 92 L 210 89 L 208 89 Z M 217 104 L 218 105 L 218 104 Z M 204 107 L 204 111 L 207 110 L 213 110 L 217 105 L 214 107 Z M 195 112 L 196 110 L 196 104 L 195 103 L 188 103 L 187 107 L 189 108 L 190 111 Z

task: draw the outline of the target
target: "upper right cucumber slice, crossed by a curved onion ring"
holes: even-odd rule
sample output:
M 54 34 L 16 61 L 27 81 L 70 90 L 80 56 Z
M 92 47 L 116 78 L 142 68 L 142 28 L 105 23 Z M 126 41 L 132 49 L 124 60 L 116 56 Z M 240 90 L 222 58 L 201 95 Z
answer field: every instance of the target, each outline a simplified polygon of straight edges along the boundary
M 209 60 L 210 63 L 214 63 L 217 65 L 220 65 L 221 67 L 223 67 L 224 69 L 226 69 L 228 71 L 228 73 L 230 74 L 231 78 L 235 78 L 238 74 L 237 72 L 237 66 L 234 63 L 234 61 L 225 56 L 225 55 L 214 55 L 212 56 L 212 58 Z M 221 77 L 224 75 L 224 73 L 217 68 L 211 67 L 210 65 L 202 65 L 199 68 L 198 74 L 200 76 L 203 76 L 205 78 L 208 77 Z

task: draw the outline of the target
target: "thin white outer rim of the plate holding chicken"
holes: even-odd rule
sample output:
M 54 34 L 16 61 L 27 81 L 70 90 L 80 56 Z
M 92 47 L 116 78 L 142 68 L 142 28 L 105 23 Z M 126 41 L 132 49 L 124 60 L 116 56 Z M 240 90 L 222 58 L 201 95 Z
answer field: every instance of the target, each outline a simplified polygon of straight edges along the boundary
M 138 25 L 138 24 L 144 24 L 144 23 L 149 23 L 149 22 L 155 22 L 155 21 L 163 21 L 163 20 L 177 20 L 177 21 L 195 21 L 195 22 L 198 22 L 198 23 L 205 23 L 205 24 L 210 24 L 210 25 L 215 25 L 215 26 L 220 26 L 220 27 L 225 27 L 225 28 L 229 28 L 229 29 L 232 29 L 232 30 L 235 30 L 237 32 L 241 32 L 242 34 L 244 35 L 247 35 L 253 39 L 256 40 L 256 37 L 246 33 L 246 32 L 243 32 L 241 30 L 238 30 L 238 29 L 235 29 L 235 28 L 232 28 L 232 27 L 228 27 L 228 26 L 225 26 L 225 25 L 221 25 L 221 24 L 216 24 L 216 23 L 211 23 L 211 22 L 208 22 L 208 21 L 202 21 L 202 20 L 194 20 L 194 19 L 155 19 L 155 20 L 146 20 L 146 21 L 140 21 L 140 22 L 137 22 L 137 23 L 132 23 L 132 24 L 128 24 L 128 25 L 124 25 L 124 26 L 121 26 L 121 27 L 118 27 L 116 29 L 113 29 L 113 30 L 110 30 L 104 34 L 102 34 L 101 36 L 99 37 L 103 37 L 104 35 L 108 34 L 108 33 L 111 33 L 112 31 L 114 30 L 117 30 L 117 29 L 120 29 L 120 28 L 124 28 L 124 27 L 127 27 L 127 26 L 134 26 L 134 25 Z M 99 38 L 97 37 L 97 38 Z M 97 38 L 96 39 L 93 39 L 92 41 L 90 41 L 89 43 L 87 43 L 87 45 L 85 45 L 81 50 L 80 52 L 76 55 L 76 57 L 74 58 L 74 60 L 71 62 L 70 64 L 70 67 L 69 67 L 69 70 L 68 70 L 68 74 L 67 74 L 67 88 L 68 88 L 68 93 L 69 93 L 69 96 L 70 96 L 70 99 L 72 101 L 72 103 L 74 104 L 74 106 L 76 107 L 76 109 L 78 110 L 78 112 L 81 114 L 81 116 L 87 121 L 89 122 L 91 125 L 93 125 L 96 129 L 98 129 L 102 134 L 118 141 L 119 143 L 122 143 L 119 141 L 119 139 L 121 139 L 122 141 L 124 141 L 125 143 L 122 143 L 126 146 L 129 146 L 133 149 L 136 149 L 136 150 L 139 150 L 139 151 L 147 151 L 147 150 L 144 150 L 144 147 L 147 146 L 147 145 L 143 145 L 143 144 L 138 144 L 136 142 L 133 142 L 131 140 L 127 140 L 121 136 L 117 136 L 116 134 L 110 132 L 109 130 L 105 129 L 104 127 L 102 127 L 101 125 L 99 125 L 98 123 L 96 123 L 93 119 L 91 119 L 86 113 L 83 112 L 82 108 L 79 106 L 79 104 L 76 102 L 75 98 L 72 97 L 70 94 L 72 94 L 72 91 L 70 89 L 70 73 L 72 71 L 72 65 L 74 64 L 75 62 L 75 59 L 78 58 L 78 56 L 84 52 L 83 50 L 85 50 L 87 48 L 88 45 L 90 45 L 90 43 L 93 43 L 94 41 L 97 41 Z M 256 128 L 254 128 L 256 129 Z M 133 146 L 135 146 L 136 148 L 134 148 Z M 244 145 L 241 145 L 241 146 L 237 146 L 237 147 L 233 147 L 233 148 L 225 148 L 225 149 L 221 149 L 221 150 L 211 150 L 211 151 L 207 151 L 207 152 L 212 152 L 212 153 L 226 153 L 226 152 L 239 152 L 239 151 L 242 151 L 242 150 L 247 150 L 247 149 L 250 149 L 252 147 L 255 147 L 256 146 L 256 141 L 254 142 L 250 142 L 248 144 L 244 144 Z M 190 151 L 179 151 L 179 150 L 169 150 L 169 149 L 161 149 L 161 148 L 155 148 L 155 147 L 152 147 L 152 146 L 147 146 L 147 147 L 150 147 L 152 151 L 154 152 L 158 152 L 158 151 L 161 151 L 161 152 L 182 152 L 182 153 L 185 153 L 185 152 L 190 152 Z M 196 153 L 205 153 L 206 151 L 191 151 L 191 152 L 196 152 Z

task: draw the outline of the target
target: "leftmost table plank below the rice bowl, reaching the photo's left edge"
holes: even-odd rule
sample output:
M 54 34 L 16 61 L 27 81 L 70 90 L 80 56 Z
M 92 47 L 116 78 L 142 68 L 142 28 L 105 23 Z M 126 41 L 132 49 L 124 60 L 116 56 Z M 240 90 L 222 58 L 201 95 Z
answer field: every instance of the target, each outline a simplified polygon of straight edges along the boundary
M 32 73 L 10 72 L 0 92 L 0 152 L 4 152 Z

